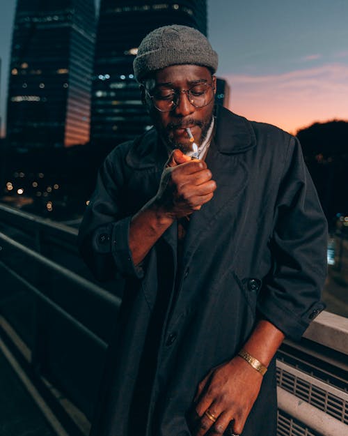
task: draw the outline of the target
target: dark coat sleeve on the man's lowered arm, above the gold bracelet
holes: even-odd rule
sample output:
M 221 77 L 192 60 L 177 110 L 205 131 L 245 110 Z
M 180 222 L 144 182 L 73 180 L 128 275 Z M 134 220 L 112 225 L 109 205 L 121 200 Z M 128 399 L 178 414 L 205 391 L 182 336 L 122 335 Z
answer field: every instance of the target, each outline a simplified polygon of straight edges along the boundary
M 317 192 L 291 137 L 274 211 L 270 249 L 273 269 L 265 278 L 258 309 L 286 336 L 299 339 L 325 307 L 327 225 Z

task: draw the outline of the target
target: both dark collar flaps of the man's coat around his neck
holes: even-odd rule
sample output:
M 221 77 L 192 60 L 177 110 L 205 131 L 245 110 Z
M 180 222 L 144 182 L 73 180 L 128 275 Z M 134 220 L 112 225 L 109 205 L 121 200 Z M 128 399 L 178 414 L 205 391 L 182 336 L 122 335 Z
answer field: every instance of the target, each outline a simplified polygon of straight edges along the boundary
M 251 122 L 243 116 L 230 112 L 225 107 L 216 106 L 216 128 L 214 140 L 219 153 L 244 153 L 256 144 Z M 161 170 L 168 156 L 161 144 L 155 128 L 151 128 L 141 137 L 137 137 L 130 147 L 127 164 L 137 170 L 154 168 Z

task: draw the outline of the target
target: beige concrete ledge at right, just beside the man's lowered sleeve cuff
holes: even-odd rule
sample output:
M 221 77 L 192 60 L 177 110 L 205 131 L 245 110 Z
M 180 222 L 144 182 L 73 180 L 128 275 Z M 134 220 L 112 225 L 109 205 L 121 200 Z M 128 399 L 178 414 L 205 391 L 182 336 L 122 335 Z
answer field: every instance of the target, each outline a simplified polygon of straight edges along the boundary
M 313 320 L 303 338 L 348 355 L 348 318 L 324 310 Z

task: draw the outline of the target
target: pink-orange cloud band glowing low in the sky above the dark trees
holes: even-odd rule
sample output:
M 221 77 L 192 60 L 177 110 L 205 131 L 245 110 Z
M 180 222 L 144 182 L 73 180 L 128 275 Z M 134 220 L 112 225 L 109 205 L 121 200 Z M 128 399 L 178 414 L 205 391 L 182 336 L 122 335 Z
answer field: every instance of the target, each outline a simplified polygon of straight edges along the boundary
M 315 121 L 348 120 L 348 66 L 341 63 L 278 75 L 230 75 L 230 109 L 295 133 Z

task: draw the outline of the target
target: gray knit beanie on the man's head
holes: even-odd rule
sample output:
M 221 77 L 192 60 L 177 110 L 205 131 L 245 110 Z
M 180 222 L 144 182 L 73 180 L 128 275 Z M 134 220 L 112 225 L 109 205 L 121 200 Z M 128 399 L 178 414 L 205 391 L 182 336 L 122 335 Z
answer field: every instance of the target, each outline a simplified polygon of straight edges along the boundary
M 133 62 L 134 75 L 141 82 L 152 71 L 184 63 L 206 66 L 215 73 L 218 55 L 197 29 L 178 24 L 159 27 L 141 41 Z

